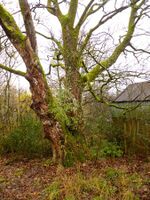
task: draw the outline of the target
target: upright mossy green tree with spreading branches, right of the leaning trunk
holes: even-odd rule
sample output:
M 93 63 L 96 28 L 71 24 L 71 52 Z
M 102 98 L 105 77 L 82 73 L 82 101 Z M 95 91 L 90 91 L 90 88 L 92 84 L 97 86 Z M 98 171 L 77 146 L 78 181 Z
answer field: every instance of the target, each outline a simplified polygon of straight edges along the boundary
M 112 66 L 120 54 L 125 50 L 125 48 L 129 45 L 130 40 L 132 39 L 135 26 L 137 21 L 141 16 L 137 16 L 138 10 L 144 4 L 144 0 L 135 1 L 132 0 L 132 3 L 121 6 L 120 8 L 116 8 L 114 11 L 110 11 L 109 14 L 102 16 L 98 23 L 93 26 L 86 34 L 84 39 L 80 41 L 81 36 L 81 28 L 86 22 L 87 18 L 95 12 L 103 9 L 103 7 L 108 3 L 108 1 L 103 1 L 101 3 L 96 3 L 94 0 L 89 1 L 87 6 L 78 20 L 76 20 L 79 1 L 78 0 L 70 0 L 69 8 L 67 14 L 63 14 L 60 9 L 60 5 L 58 1 L 47 1 L 48 11 L 50 14 L 56 16 L 61 24 L 62 28 L 62 46 L 60 48 L 60 43 L 54 40 L 63 56 L 64 61 L 64 70 L 66 73 L 65 76 L 65 87 L 71 93 L 72 101 L 76 100 L 78 103 L 77 111 L 75 108 L 72 108 L 72 112 L 68 113 L 68 117 L 74 117 L 75 123 L 72 124 L 72 127 L 68 127 L 69 129 L 76 129 L 76 132 L 80 132 L 82 127 L 82 94 L 84 91 L 84 87 L 89 87 L 90 83 L 95 81 L 95 79 L 101 74 L 104 70 L 107 70 L 110 66 Z M 128 30 L 125 34 L 123 40 L 118 44 L 118 46 L 114 49 L 113 53 L 106 58 L 105 60 L 100 61 L 96 64 L 90 71 L 86 70 L 86 74 L 81 73 L 81 69 L 83 68 L 83 54 L 84 50 L 87 47 L 87 44 L 95 30 L 102 26 L 104 23 L 112 19 L 118 13 L 124 11 L 127 8 L 131 8 L 131 13 L 129 16 Z M 96 8 L 96 9 L 94 9 Z M 79 42 L 80 41 L 80 42 Z M 80 44 L 79 44 L 80 43 Z M 84 70 L 86 66 L 84 65 Z M 87 68 L 86 68 L 87 69 Z M 90 91 L 90 89 L 89 89 Z

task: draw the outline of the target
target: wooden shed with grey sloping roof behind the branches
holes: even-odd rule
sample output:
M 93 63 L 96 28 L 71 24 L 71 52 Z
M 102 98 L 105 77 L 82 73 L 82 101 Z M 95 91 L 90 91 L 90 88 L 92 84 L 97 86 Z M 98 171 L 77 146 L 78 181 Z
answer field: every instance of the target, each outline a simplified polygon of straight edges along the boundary
M 150 81 L 133 83 L 120 93 L 112 107 L 113 122 L 123 134 L 125 152 L 150 152 Z

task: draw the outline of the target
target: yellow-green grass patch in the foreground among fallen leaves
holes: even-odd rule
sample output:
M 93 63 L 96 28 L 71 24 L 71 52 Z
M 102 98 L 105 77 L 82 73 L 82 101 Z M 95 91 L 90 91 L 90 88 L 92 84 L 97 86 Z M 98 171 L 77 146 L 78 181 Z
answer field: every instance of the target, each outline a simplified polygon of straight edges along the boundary
M 62 174 L 43 190 L 44 200 L 138 200 L 136 191 L 142 186 L 137 173 L 127 174 L 106 168 L 103 174 Z

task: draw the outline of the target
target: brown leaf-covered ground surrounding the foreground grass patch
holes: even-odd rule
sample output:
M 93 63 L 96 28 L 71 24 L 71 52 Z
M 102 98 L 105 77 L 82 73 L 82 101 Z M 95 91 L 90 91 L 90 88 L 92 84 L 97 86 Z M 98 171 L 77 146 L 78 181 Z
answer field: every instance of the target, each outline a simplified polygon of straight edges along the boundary
M 102 159 L 60 169 L 46 158 L 26 159 L 9 156 L 0 158 L 0 200 L 42 200 L 44 189 L 56 177 L 69 177 L 79 171 L 84 176 L 103 174 L 108 167 L 123 169 L 128 174 L 138 173 L 143 180 L 137 191 L 139 198 L 150 199 L 150 163 L 140 158 Z

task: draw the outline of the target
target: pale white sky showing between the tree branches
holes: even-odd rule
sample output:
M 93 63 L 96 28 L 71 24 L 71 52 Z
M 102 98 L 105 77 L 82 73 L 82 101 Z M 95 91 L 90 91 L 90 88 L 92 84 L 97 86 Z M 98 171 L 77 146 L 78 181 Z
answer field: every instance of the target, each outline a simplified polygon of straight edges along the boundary
M 11 11 L 18 11 L 19 10 L 19 5 L 18 5 L 18 0 L 0 0 L 0 3 L 3 2 L 7 2 L 6 6 L 7 8 Z M 29 3 L 38 3 L 37 0 L 29 0 Z M 84 3 L 84 0 L 81 0 L 80 2 Z M 86 1 L 86 2 L 89 2 Z M 114 5 L 115 0 L 111 0 L 110 4 L 108 5 L 107 9 L 112 9 L 112 6 Z M 120 2 L 123 2 L 120 1 Z M 46 5 L 46 0 L 41 0 L 42 4 Z M 65 12 L 65 7 L 62 8 L 63 12 Z M 78 17 L 81 15 L 83 10 L 83 7 L 80 8 L 79 12 L 78 12 Z M 36 30 L 39 32 L 44 33 L 45 35 L 49 35 L 49 31 L 52 31 L 54 33 L 54 35 L 59 38 L 60 34 L 61 34 L 61 29 L 60 29 L 60 25 L 58 23 L 58 20 L 56 19 L 56 17 L 50 15 L 46 10 L 44 9 L 37 9 L 37 17 L 39 17 L 39 19 L 41 20 L 41 24 L 43 25 L 36 25 Z M 111 20 L 109 23 L 105 24 L 104 26 L 102 26 L 101 28 L 99 28 L 96 33 L 99 32 L 104 32 L 104 31 L 110 31 L 110 33 L 112 34 L 112 36 L 114 37 L 114 43 L 118 44 L 119 38 L 120 36 L 123 36 L 125 34 L 125 31 L 127 30 L 127 24 L 128 24 L 128 14 L 129 14 L 129 10 L 122 12 L 121 14 L 118 14 L 116 17 L 114 17 L 113 20 Z M 33 15 L 34 16 L 34 15 Z M 98 20 L 99 20 L 99 16 L 100 13 L 92 15 L 92 17 L 90 19 L 88 19 L 88 23 L 85 27 L 85 30 L 89 30 L 90 27 L 92 27 Z M 14 15 L 17 23 L 19 26 L 23 25 L 22 22 L 22 17 L 21 15 Z M 149 23 L 149 19 L 143 19 L 139 25 L 142 29 L 146 29 L 147 31 L 150 30 L 150 23 Z M 36 24 L 36 23 L 35 23 Z M 137 30 L 137 33 L 140 33 L 142 31 Z M 135 37 L 132 41 L 135 44 L 136 47 L 138 48 L 147 48 L 150 46 L 150 36 L 139 36 L 139 37 Z M 42 38 L 41 36 L 37 36 L 38 39 L 38 46 L 39 46 L 39 56 L 41 58 L 41 62 L 44 66 L 45 69 L 47 69 L 48 65 L 49 65 L 49 61 L 47 61 L 47 56 L 49 56 L 51 54 L 51 52 L 48 52 L 48 49 L 50 48 L 50 44 L 51 42 L 49 42 L 48 40 Z M 108 48 L 112 48 L 112 43 L 108 42 Z M 143 58 L 139 58 L 142 59 L 143 61 L 140 62 L 139 64 L 137 63 L 137 61 L 135 60 L 135 58 L 133 57 L 133 55 L 128 55 L 127 59 L 124 59 L 123 56 L 120 56 L 118 61 L 116 62 L 115 66 L 120 66 L 120 69 L 124 69 L 124 65 L 127 64 L 128 67 L 132 70 L 143 70 L 143 68 L 145 68 L 145 70 L 150 71 L 150 64 L 149 64 L 149 59 L 147 58 L 147 55 L 143 55 Z M 0 59 L 1 61 L 1 59 Z M 20 63 L 19 63 L 20 65 Z M 23 65 L 21 64 L 19 66 L 19 69 L 25 70 L 25 67 L 23 67 Z M 135 79 L 135 81 L 139 81 L 140 79 Z M 28 88 L 29 85 L 27 83 L 27 81 L 25 81 L 23 78 L 19 79 L 19 85 L 21 85 L 23 88 Z

